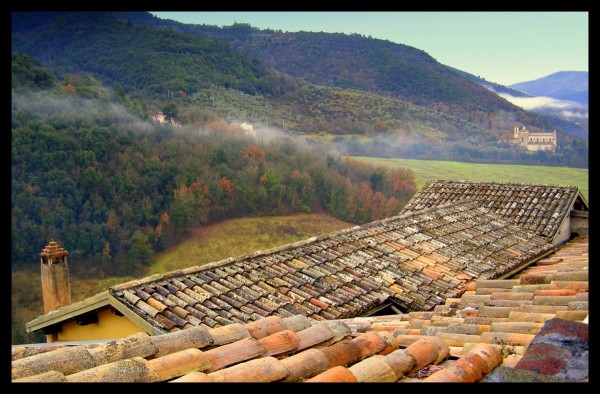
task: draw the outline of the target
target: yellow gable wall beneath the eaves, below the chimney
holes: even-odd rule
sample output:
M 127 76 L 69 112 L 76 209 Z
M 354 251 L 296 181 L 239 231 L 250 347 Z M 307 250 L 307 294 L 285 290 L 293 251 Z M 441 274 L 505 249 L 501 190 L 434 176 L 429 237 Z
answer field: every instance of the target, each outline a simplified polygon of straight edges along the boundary
M 98 312 L 98 323 L 80 326 L 71 320 L 62 325 L 62 330 L 56 333 L 56 340 L 85 341 L 88 339 L 122 338 L 144 330 L 125 316 L 117 316 L 110 309 Z M 54 339 L 54 338 L 53 338 Z

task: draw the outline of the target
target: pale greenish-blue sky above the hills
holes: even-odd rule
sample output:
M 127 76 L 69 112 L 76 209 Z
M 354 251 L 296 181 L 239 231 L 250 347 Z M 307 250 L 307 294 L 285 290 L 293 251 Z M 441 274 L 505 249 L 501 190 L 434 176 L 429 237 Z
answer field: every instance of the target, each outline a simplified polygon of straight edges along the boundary
M 502 85 L 589 71 L 588 12 L 152 12 L 184 23 L 359 33 Z

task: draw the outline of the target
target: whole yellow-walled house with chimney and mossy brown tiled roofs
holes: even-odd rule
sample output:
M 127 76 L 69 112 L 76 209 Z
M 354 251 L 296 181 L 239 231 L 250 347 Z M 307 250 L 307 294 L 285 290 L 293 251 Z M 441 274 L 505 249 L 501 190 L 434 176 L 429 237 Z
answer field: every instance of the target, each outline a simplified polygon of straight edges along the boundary
M 468 186 L 462 198 L 454 186 Z M 587 211 L 574 187 L 438 181 L 397 216 L 134 280 L 72 304 L 68 252 L 51 242 L 40 254 L 45 314 L 26 329 L 68 342 L 269 316 L 326 321 L 432 311 L 469 283 L 514 275 L 571 232 L 586 234 Z

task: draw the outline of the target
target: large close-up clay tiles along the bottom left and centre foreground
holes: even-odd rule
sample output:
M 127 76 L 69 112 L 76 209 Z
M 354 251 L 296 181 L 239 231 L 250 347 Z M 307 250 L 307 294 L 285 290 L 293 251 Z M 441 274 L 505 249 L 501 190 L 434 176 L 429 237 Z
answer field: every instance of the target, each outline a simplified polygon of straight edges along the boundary
M 385 319 L 394 318 L 398 316 Z M 474 354 L 484 358 L 486 370 L 501 362 L 500 353 L 489 345 L 473 348 L 469 357 Z M 12 380 L 393 382 L 448 356 L 448 346 L 436 337 L 400 349 L 385 332 L 353 333 L 343 322 L 272 316 L 210 330 L 193 327 L 158 336 L 138 333 L 106 344 L 61 347 L 28 357 L 13 353 Z

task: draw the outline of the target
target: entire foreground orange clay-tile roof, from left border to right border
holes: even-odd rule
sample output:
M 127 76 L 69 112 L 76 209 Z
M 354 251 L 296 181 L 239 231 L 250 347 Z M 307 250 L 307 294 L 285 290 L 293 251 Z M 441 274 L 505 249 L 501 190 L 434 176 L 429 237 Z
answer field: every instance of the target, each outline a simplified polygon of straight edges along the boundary
M 138 333 L 110 343 L 48 348 L 29 356 L 25 349 L 17 349 L 12 379 L 475 382 L 498 366 L 513 369 L 519 364 L 521 372 L 515 376 L 523 379 L 527 372 L 523 354 L 544 322 L 582 321 L 587 316 L 587 268 L 588 239 L 582 237 L 516 278 L 475 281 L 473 290 L 434 311 L 320 322 L 301 315 L 271 316 L 245 325 L 196 326 L 155 336 Z M 563 354 L 569 356 L 566 350 Z M 554 369 L 549 378 L 568 378 L 556 375 Z M 539 375 L 538 371 L 527 376 Z M 587 379 L 581 371 L 575 375 L 577 380 Z M 504 381 L 510 378 L 502 376 Z

